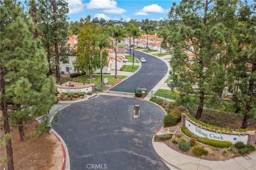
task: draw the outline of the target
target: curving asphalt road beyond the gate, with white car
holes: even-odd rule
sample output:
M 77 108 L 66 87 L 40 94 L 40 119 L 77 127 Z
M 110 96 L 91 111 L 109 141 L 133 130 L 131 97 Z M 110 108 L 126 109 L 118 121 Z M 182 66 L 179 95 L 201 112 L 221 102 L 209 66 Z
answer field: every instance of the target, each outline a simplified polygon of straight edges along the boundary
M 127 54 L 130 54 L 130 49 L 127 49 Z M 131 55 L 133 50 L 131 50 Z M 156 84 L 164 77 L 168 71 L 167 65 L 157 57 L 134 50 L 134 56 L 139 60 L 145 58 L 146 63 L 141 63 L 140 70 L 130 78 L 117 84 L 109 89 L 111 91 L 134 92 L 136 88 L 147 88 L 147 91 L 153 89 Z

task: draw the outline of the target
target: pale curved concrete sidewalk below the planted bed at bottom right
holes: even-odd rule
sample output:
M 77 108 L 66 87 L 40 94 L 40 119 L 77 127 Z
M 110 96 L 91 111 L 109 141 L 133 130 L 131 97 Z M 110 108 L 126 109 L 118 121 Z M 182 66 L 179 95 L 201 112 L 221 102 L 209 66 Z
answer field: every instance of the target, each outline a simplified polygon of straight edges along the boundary
M 153 147 L 157 154 L 167 163 L 175 166 L 176 169 L 183 170 L 205 170 L 205 169 L 256 169 L 256 152 L 245 157 L 236 157 L 226 161 L 210 161 L 205 159 L 200 159 L 196 157 L 191 157 L 188 155 L 181 154 L 177 152 L 163 142 L 153 142 Z M 247 159 L 249 160 L 247 160 Z

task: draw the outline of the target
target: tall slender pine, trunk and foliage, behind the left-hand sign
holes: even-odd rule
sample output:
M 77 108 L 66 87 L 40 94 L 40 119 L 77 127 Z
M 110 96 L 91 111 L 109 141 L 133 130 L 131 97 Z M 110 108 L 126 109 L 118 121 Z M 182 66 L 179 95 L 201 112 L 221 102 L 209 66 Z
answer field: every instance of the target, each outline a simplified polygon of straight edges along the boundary
M 55 74 L 57 83 L 60 83 L 60 58 L 66 57 L 68 38 L 68 3 L 63 0 L 52 0 L 52 33 L 55 52 Z

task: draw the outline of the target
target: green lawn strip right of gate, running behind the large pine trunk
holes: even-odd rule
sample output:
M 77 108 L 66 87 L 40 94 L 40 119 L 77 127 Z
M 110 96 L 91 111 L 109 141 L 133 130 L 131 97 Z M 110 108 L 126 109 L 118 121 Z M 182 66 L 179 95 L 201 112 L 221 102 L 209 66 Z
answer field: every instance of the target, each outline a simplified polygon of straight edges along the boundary
M 167 81 L 167 80 L 166 80 Z M 179 98 L 179 92 L 166 90 L 166 89 L 158 89 L 155 93 L 155 96 L 164 97 L 172 100 L 177 100 Z M 190 96 L 190 99 L 194 101 L 194 103 L 198 103 L 198 97 Z M 214 109 L 221 112 L 235 113 L 234 102 L 230 100 L 222 99 L 222 104 L 212 104 L 210 101 L 205 100 L 204 107 Z

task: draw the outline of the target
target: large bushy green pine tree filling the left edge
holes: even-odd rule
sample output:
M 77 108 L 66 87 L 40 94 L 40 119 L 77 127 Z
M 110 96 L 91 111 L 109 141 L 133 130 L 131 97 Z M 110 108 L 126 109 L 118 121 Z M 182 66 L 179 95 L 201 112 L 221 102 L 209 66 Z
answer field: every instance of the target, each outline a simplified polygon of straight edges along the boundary
M 25 139 L 23 123 L 46 115 L 57 101 L 55 83 L 46 77 L 47 66 L 42 43 L 34 38 L 35 27 L 22 8 L 11 1 L 1 15 L 1 60 L 7 108 L 12 125 L 18 125 L 20 140 Z

